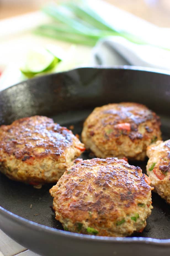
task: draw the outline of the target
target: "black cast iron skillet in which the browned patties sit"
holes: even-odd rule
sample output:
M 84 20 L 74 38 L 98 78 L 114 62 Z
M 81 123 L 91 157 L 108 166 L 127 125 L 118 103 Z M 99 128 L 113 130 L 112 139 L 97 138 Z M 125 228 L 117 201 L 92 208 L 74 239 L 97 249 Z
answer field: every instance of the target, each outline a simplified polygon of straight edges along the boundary
M 161 116 L 163 139 L 170 138 L 170 75 L 128 66 L 78 68 L 19 83 L 0 93 L 0 124 L 45 115 L 81 133 L 84 119 L 96 106 L 133 101 Z M 89 158 L 89 152 L 83 158 Z M 145 172 L 146 162 L 132 162 Z M 45 185 L 36 190 L 0 175 L 0 228 L 41 255 L 161 255 L 170 253 L 170 206 L 153 193 L 151 216 L 133 237 L 95 237 L 63 231 L 55 221 Z M 32 205 L 32 207 L 31 207 Z

